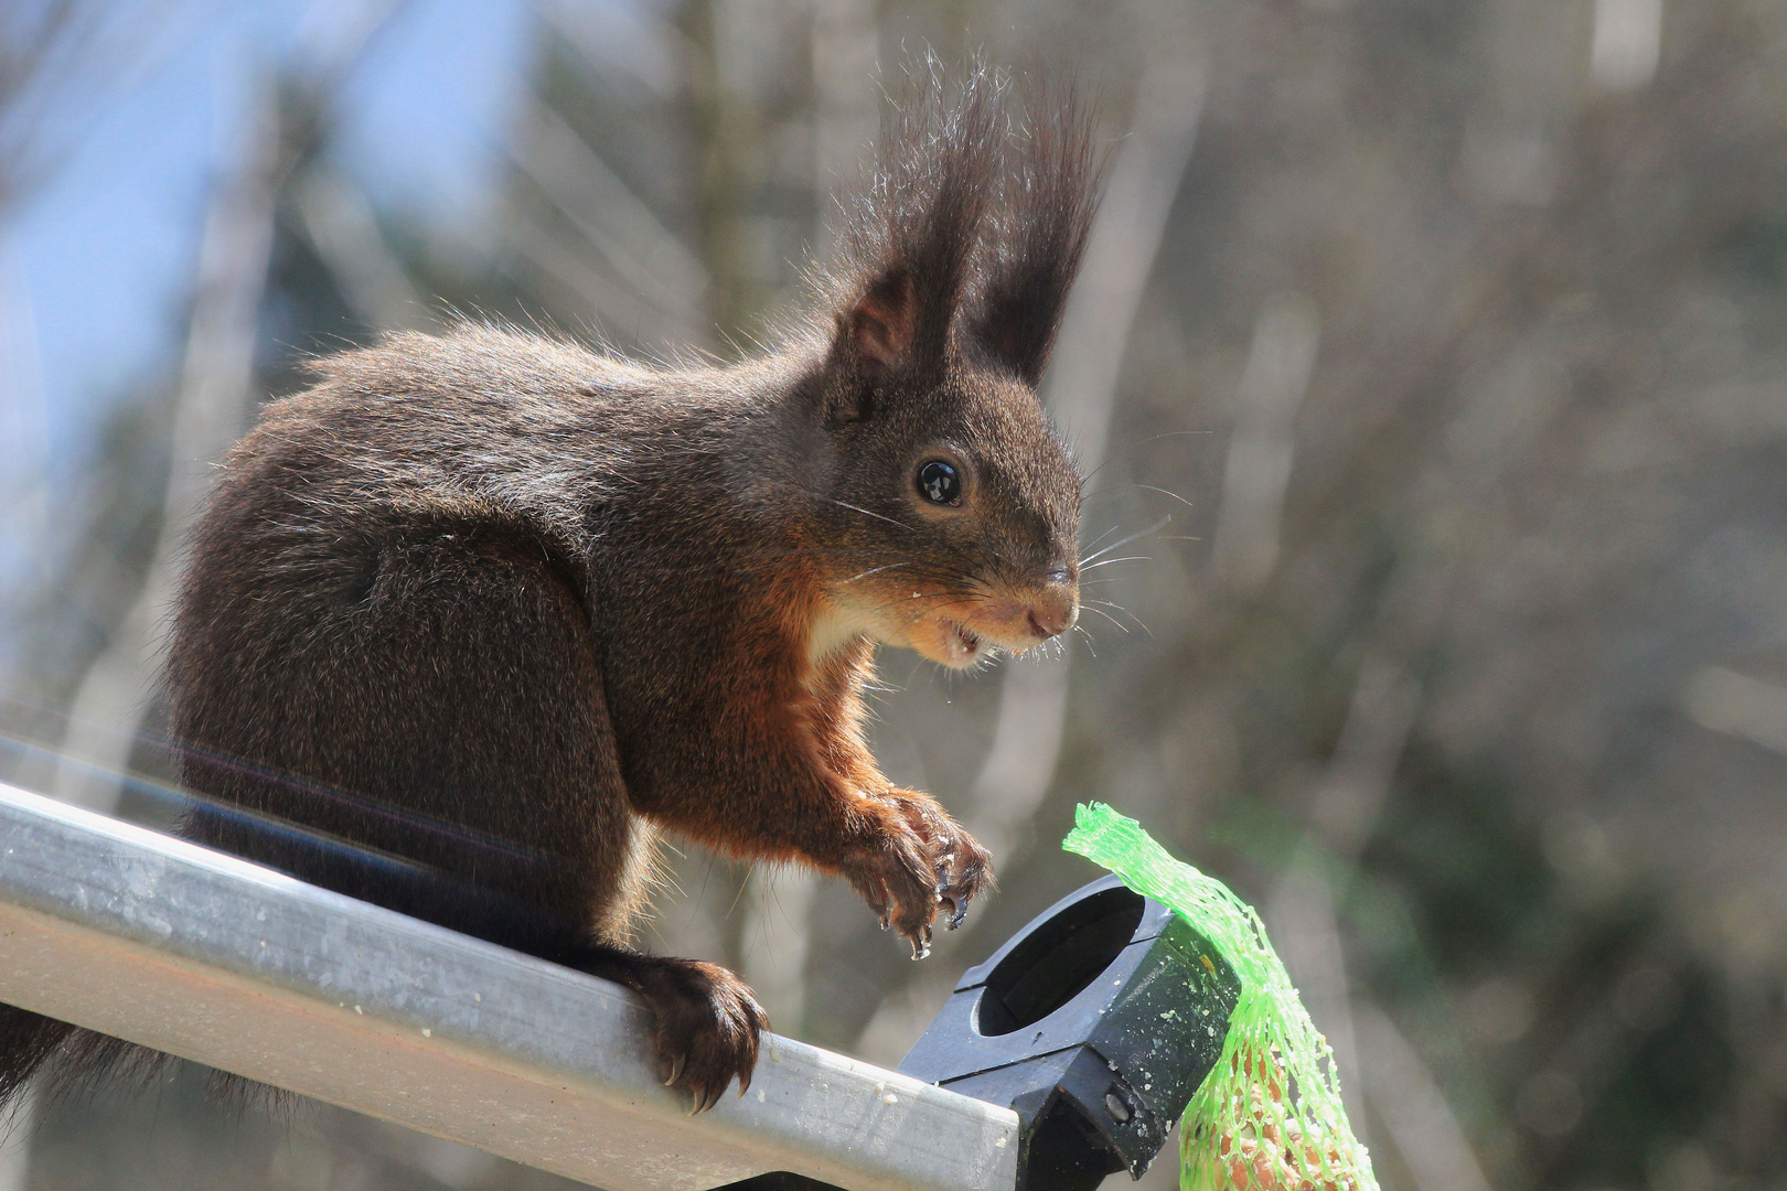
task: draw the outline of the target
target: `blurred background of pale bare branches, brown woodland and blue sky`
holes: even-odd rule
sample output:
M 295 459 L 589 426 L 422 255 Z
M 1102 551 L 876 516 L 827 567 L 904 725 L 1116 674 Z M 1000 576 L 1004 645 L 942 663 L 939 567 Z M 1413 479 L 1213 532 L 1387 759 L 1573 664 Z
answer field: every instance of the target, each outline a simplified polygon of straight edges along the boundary
M 999 859 L 929 961 L 697 848 L 642 943 L 892 1064 L 1095 796 L 1262 907 L 1387 1189 L 1787 1184 L 1783 0 L 5 0 L 0 779 L 166 821 L 180 532 L 306 355 L 738 354 L 924 46 L 1101 96 L 1047 396 L 1113 548 L 1061 657 L 883 661 Z M 568 1186 L 198 1079 L 0 1182 Z

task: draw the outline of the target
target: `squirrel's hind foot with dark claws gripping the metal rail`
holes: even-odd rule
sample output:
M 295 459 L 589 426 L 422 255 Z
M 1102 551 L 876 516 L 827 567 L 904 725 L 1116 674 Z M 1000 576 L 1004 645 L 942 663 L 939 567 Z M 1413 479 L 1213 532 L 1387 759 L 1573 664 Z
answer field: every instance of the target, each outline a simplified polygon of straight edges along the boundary
M 745 1095 L 768 1018 L 743 980 L 697 959 L 654 959 L 640 993 L 658 1014 L 658 1077 L 693 1098 L 690 1112 L 718 1104 L 733 1077 Z

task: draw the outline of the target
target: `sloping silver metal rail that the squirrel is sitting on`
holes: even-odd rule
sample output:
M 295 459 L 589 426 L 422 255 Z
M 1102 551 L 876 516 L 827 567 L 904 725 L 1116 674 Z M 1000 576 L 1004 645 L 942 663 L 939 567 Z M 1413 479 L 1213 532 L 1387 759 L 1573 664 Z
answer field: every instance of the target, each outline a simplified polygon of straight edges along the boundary
M 618 986 L 0 784 L 0 1000 L 609 1191 L 1010 1191 L 1010 1109 L 765 1036 L 699 1118 Z

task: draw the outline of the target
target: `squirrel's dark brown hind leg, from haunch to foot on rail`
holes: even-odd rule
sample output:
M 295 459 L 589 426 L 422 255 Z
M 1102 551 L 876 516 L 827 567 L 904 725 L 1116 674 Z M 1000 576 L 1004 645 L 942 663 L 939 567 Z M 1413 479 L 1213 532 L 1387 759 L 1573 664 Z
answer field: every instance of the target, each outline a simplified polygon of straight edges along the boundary
M 443 520 L 361 527 L 332 570 L 284 582 L 239 573 L 247 552 L 211 529 L 170 657 L 188 782 L 452 880 L 363 880 L 214 816 L 198 834 L 627 986 L 656 1014 L 661 1077 L 697 1109 L 749 1082 L 765 1020 L 743 982 L 622 945 L 652 829 L 627 802 L 570 568 L 515 527 Z

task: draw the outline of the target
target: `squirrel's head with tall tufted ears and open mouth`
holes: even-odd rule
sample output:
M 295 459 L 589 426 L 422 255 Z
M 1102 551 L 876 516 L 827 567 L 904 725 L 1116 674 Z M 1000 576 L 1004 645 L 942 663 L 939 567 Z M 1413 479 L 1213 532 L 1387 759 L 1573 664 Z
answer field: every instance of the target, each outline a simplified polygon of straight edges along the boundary
M 829 279 L 813 491 L 843 623 L 945 666 L 1079 612 L 1079 475 L 1036 396 L 1097 168 L 1070 95 L 1006 132 L 985 71 L 902 105 Z

